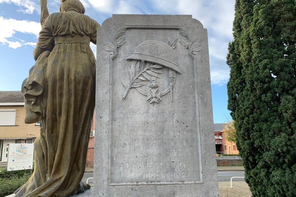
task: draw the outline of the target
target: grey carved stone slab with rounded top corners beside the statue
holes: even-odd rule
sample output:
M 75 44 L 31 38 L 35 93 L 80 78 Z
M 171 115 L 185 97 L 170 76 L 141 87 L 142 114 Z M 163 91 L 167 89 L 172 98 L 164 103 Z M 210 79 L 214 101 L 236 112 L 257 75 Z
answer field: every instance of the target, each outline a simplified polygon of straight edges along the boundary
M 218 196 L 207 30 L 114 14 L 97 33 L 94 196 Z

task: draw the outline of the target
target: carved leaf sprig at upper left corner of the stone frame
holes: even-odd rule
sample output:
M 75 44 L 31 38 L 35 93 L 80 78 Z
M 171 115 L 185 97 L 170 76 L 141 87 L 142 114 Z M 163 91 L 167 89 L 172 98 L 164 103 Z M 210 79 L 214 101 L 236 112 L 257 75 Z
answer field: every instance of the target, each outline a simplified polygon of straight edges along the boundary
M 119 48 L 126 43 L 126 41 L 124 41 L 125 37 L 123 36 L 126 30 L 126 27 L 121 27 L 116 32 L 115 30 L 112 30 L 111 32 L 107 33 L 108 39 L 111 43 L 106 43 L 104 49 L 113 53 L 111 55 L 115 55 L 116 48 Z

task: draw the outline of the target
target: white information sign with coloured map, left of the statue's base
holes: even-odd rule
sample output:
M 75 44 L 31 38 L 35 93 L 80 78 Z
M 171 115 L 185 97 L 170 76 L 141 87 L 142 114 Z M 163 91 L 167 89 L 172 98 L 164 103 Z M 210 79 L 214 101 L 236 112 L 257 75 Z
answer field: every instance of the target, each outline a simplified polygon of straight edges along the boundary
M 9 144 L 7 171 L 33 169 L 34 144 Z

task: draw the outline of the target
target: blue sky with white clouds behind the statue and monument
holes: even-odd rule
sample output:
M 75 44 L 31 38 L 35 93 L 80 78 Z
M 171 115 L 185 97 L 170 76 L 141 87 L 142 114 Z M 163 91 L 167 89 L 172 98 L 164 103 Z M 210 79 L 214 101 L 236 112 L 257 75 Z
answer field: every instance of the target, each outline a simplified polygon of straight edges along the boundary
M 229 117 L 228 43 L 235 0 L 80 0 L 91 18 L 102 24 L 112 14 L 191 14 L 208 30 L 214 123 Z M 60 0 L 47 0 L 49 13 Z M 33 50 L 41 30 L 39 0 L 0 0 L 0 91 L 20 90 L 34 64 Z M 95 52 L 95 45 L 91 45 Z

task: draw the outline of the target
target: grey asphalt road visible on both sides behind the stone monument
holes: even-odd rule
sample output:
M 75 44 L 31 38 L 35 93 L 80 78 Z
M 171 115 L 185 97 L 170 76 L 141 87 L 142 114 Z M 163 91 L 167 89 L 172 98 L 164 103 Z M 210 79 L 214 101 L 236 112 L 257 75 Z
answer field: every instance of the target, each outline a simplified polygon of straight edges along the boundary
M 93 172 L 85 172 L 82 181 L 86 183 L 87 178 L 93 176 Z M 231 177 L 244 177 L 244 171 L 218 171 L 218 181 L 230 181 Z M 244 181 L 244 179 L 234 178 L 233 181 Z M 89 179 L 88 183 L 92 184 L 93 179 Z

